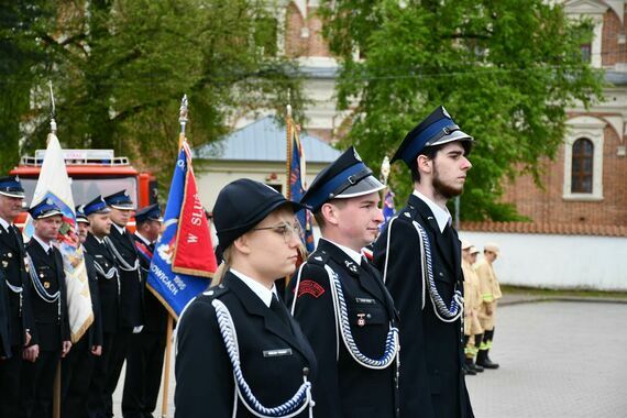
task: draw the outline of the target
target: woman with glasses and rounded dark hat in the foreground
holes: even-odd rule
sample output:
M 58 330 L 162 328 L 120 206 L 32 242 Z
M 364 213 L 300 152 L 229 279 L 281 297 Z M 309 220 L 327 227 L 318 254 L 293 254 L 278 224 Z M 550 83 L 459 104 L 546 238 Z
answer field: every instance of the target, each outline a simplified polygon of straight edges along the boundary
M 213 222 L 224 262 L 182 315 L 176 417 L 311 416 L 316 358 L 274 285 L 296 268 L 299 209 L 250 179 L 220 191 Z

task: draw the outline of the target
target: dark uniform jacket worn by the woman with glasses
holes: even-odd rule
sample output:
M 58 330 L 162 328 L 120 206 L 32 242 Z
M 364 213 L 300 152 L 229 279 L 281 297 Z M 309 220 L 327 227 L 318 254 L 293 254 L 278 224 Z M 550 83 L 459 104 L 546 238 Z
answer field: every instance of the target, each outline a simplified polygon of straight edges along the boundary
M 211 294 L 211 295 L 210 295 Z M 199 295 L 182 316 L 176 354 L 176 417 L 231 417 L 234 380 L 217 322 L 213 299 L 231 312 L 242 373 L 253 395 L 266 407 L 287 402 L 302 384 L 302 369 L 316 387 L 316 358 L 298 323 L 287 323 L 240 278 L 227 273 L 220 287 Z M 238 417 L 253 415 L 238 400 Z M 315 408 L 316 409 L 316 408 Z M 298 417 L 308 417 L 305 409 Z

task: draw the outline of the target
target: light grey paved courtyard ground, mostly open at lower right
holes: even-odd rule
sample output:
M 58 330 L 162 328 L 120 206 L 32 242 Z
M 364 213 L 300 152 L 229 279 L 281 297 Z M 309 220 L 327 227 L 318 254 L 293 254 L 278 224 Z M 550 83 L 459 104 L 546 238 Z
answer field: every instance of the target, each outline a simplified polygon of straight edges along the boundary
M 544 301 L 497 315 L 491 358 L 501 369 L 466 378 L 477 418 L 627 417 L 627 304 Z

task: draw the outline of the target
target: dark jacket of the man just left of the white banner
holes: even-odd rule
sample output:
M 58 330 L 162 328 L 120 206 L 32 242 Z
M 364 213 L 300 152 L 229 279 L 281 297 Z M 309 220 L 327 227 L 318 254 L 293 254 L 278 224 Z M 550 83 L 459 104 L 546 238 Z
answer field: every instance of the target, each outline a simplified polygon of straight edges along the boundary
M 26 244 L 26 252 L 31 256 L 35 274 L 31 274 L 29 287 L 32 295 L 33 316 L 37 330 L 40 350 L 55 351 L 63 348 L 63 341 L 69 341 L 69 321 L 67 318 L 67 290 L 65 287 L 65 272 L 61 252 L 51 246 L 52 254 L 47 254 L 34 238 Z M 35 278 L 32 276 L 36 276 Z M 59 301 L 44 300 L 35 286 L 42 287 L 51 295 L 61 293 Z

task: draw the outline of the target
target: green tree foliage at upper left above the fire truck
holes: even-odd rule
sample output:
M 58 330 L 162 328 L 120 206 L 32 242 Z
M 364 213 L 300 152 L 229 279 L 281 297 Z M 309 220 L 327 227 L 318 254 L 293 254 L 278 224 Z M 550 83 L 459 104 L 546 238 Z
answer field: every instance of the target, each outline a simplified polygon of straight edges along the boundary
M 276 13 L 267 1 L 33 3 L 38 14 L 22 13 L 23 30 L 2 21 L 9 44 L 35 40 L 23 50 L 36 58 L 8 69 L 13 78 L 2 82 L 3 89 L 18 86 L 12 96 L 30 103 L 2 114 L 21 122 L 20 135 L 11 134 L 22 138 L 24 151 L 45 145 L 48 79 L 64 146 L 114 148 L 164 177 L 170 174 L 164 162 L 176 155 L 184 94 L 193 145 L 216 140 L 244 114 L 283 111 L 288 91 L 293 103 L 301 102 L 294 64 L 276 54 Z

